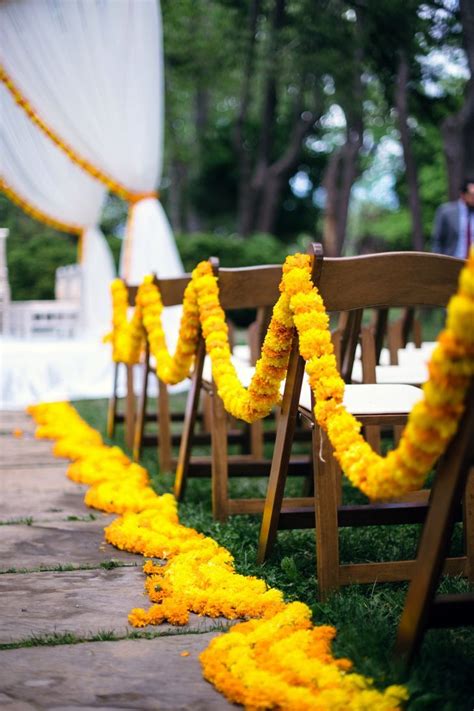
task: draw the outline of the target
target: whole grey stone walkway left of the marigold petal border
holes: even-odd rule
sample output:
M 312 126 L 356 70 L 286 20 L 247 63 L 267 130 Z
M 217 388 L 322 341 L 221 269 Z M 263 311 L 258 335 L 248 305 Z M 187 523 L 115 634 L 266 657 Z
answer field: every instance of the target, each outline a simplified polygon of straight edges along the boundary
M 33 432 L 0 412 L 0 708 L 236 708 L 198 659 L 226 621 L 132 630 L 129 610 L 149 605 L 143 558 L 104 542 L 115 517 L 84 505 L 86 487 Z

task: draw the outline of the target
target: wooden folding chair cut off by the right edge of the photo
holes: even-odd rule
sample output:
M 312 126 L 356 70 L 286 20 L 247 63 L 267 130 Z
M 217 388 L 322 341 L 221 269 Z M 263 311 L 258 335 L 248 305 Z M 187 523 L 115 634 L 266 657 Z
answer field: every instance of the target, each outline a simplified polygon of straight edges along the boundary
M 474 594 L 436 596 L 446 565 L 456 509 L 474 508 L 474 382 L 458 431 L 440 460 L 418 547 L 416 566 L 398 627 L 395 653 L 409 665 L 429 627 L 474 625 Z M 471 519 L 472 523 L 472 519 Z M 474 527 L 466 529 L 468 577 L 474 580 Z

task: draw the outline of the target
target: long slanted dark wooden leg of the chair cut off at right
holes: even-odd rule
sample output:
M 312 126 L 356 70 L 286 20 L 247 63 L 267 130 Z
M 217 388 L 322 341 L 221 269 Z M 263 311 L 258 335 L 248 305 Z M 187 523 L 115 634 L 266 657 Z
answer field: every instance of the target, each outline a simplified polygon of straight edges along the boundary
M 474 392 L 471 392 L 471 398 Z M 436 587 L 449 550 L 454 514 L 467 485 L 474 461 L 474 408 L 465 417 L 441 462 L 431 490 L 430 507 L 423 526 L 417 565 L 408 588 L 398 627 L 395 654 L 411 664 L 430 623 Z M 470 488 L 471 484 L 469 485 Z M 471 490 L 469 493 L 472 493 Z M 438 625 L 440 621 L 438 620 Z

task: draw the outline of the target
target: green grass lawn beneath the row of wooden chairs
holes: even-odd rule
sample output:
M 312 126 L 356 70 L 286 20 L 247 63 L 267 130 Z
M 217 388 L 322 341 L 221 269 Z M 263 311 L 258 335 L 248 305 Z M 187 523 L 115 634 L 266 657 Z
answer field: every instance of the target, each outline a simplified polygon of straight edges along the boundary
M 184 395 L 172 397 L 173 407 L 182 408 Z M 79 413 L 104 434 L 105 401 L 74 403 Z M 109 443 L 111 443 L 109 441 Z M 124 447 L 123 432 L 118 428 L 114 443 Z M 158 493 L 171 491 L 173 475 L 160 473 L 156 452 L 145 450 L 142 464 L 147 467 Z M 301 481 L 292 480 L 296 493 Z M 252 496 L 264 490 L 264 481 L 236 480 L 233 495 Z M 255 488 L 256 487 L 256 488 Z M 344 485 L 345 500 L 361 501 L 361 494 Z M 400 619 L 407 585 L 386 583 L 344 587 L 328 602 L 316 596 L 316 557 L 314 531 L 282 531 L 271 558 L 256 564 L 260 523 L 258 517 L 235 516 L 229 523 L 213 521 L 210 505 L 210 481 L 191 479 L 185 501 L 179 507 L 180 520 L 211 536 L 231 551 L 239 573 L 264 578 L 268 585 L 282 590 L 288 601 L 300 600 L 313 611 L 316 624 L 337 628 L 335 654 L 353 660 L 358 672 L 371 676 L 381 687 L 405 683 L 411 699 L 410 711 L 443 709 L 472 711 L 474 707 L 474 629 L 430 630 L 415 664 L 407 674 L 392 658 L 396 628 Z M 377 561 L 413 557 L 419 535 L 418 526 L 380 526 L 347 528 L 340 534 L 344 562 Z M 461 532 L 455 531 L 453 552 L 459 552 Z M 463 579 L 444 578 L 441 592 L 465 592 Z

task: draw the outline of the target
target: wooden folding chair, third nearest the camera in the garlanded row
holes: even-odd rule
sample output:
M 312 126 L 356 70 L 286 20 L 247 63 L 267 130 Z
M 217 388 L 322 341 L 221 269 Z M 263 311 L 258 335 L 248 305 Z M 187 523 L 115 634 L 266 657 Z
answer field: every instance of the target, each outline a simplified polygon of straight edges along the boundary
M 268 309 L 273 307 L 279 297 L 279 283 L 282 275 L 281 265 L 265 265 L 258 267 L 243 267 L 236 269 L 219 269 L 217 260 L 213 260 L 215 274 L 219 279 L 220 303 L 224 311 L 230 309 Z M 263 317 L 263 323 L 266 322 Z M 208 470 L 198 458 L 191 458 L 193 440 L 195 437 L 196 413 L 199 395 L 202 390 L 211 394 L 211 478 L 212 506 L 214 517 L 224 521 L 230 514 L 258 513 L 263 510 L 263 499 L 231 499 L 228 494 L 229 476 L 255 477 L 267 476 L 270 469 L 268 459 L 262 457 L 261 443 L 274 436 L 271 432 L 262 432 L 261 423 L 255 423 L 247 428 L 249 432 L 249 454 L 228 455 L 228 444 L 233 440 L 229 437 L 228 416 L 223 403 L 217 394 L 210 373 L 203 377 L 205 361 L 205 344 L 201 338 L 198 355 L 195 361 L 194 373 L 186 405 L 186 415 L 183 426 L 181 446 L 174 484 L 175 495 L 182 499 L 189 477 L 203 476 Z M 241 371 L 248 384 L 252 368 Z M 253 430 L 253 435 L 252 435 Z M 290 473 L 301 474 L 302 468 L 308 464 L 308 457 L 294 458 L 289 466 Z M 306 500 L 305 500 L 306 501 Z

